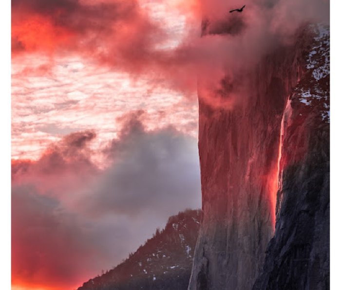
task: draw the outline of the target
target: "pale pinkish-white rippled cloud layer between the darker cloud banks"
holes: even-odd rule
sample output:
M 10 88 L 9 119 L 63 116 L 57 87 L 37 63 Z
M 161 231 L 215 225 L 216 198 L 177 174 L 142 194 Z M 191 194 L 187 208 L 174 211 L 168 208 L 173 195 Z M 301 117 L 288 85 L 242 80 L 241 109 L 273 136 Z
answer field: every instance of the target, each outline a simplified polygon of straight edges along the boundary
M 96 130 L 91 147 L 98 152 L 120 130 L 116 119 L 133 109 L 145 110 L 148 130 L 172 125 L 197 136 L 196 100 L 76 55 L 49 65 L 39 54 L 12 64 L 13 158 L 37 159 L 49 143 L 88 128 Z

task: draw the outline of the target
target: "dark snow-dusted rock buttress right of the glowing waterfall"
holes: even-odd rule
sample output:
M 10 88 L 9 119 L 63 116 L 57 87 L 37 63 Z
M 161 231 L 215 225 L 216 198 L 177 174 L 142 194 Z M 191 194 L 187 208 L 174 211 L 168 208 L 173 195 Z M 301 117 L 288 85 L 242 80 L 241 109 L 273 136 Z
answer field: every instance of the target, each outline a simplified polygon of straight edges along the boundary
M 329 28 L 284 112 L 275 236 L 253 290 L 329 289 Z

